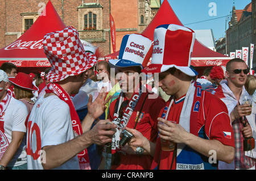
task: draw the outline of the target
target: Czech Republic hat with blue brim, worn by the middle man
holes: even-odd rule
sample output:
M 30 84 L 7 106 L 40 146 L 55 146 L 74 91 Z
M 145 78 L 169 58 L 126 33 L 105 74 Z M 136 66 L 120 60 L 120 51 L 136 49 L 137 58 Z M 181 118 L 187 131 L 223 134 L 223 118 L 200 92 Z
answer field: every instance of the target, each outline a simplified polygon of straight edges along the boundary
M 140 66 L 146 67 L 152 54 L 153 44 L 150 39 L 141 34 L 123 36 L 119 56 L 109 63 L 118 67 Z

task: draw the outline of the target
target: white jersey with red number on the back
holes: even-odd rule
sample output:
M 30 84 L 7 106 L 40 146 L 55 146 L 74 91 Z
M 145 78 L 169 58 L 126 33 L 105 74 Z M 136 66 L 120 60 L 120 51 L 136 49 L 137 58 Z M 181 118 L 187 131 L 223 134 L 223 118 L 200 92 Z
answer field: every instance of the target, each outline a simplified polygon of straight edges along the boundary
M 56 95 L 38 99 L 28 119 L 27 166 L 43 169 L 46 162 L 44 146 L 59 145 L 74 138 L 69 106 Z M 42 154 L 40 160 L 39 155 Z M 79 159 L 73 157 L 56 169 L 79 169 Z

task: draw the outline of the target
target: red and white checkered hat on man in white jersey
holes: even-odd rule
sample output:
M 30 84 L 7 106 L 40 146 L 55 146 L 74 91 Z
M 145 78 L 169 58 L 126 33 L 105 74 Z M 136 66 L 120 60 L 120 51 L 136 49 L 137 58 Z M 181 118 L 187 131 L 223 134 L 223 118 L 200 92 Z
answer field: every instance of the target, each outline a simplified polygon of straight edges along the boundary
M 47 33 L 43 40 L 44 53 L 52 65 L 46 75 L 49 82 L 81 74 L 97 63 L 94 54 L 85 52 L 79 33 L 71 26 L 62 31 Z

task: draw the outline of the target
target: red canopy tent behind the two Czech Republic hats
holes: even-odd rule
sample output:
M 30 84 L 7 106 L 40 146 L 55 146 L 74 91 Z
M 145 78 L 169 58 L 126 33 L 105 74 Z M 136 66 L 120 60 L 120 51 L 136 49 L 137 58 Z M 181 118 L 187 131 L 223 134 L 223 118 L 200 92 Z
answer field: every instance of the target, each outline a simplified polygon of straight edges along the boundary
M 167 0 L 163 1 L 154 19 L 152 19 L 152 21 L 150 22 L 150 24 L 148 24 L 147 28 L 142 32 L 142 34 L 153 41 L 154 30 L 161 24 L 178 24 L 180 26 L 183 26 Z M 105 59 L 113 58 L 115 56 L 118 56 L 118 54 L 119 51 L 114 52 L 105 56 Z M 205 47 L 205 45 L 201 44 L 200 41 L 198 41 L 197 39 L 195 40 L 191 58 L 191 65 L 195 66 L 196 70 L 199 71 L 199 73 L 207 66 L 226 65 L 226 63 L 231 59 L 232 58 L 227 57 L 224 54 L 214 52 L 208 47 Z

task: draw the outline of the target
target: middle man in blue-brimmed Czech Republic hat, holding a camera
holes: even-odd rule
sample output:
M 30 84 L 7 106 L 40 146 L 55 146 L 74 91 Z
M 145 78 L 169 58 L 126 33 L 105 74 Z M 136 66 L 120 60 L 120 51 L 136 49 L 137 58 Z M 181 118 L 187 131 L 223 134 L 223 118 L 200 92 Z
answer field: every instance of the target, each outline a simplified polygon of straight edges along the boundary
M 164 100 L 143 85 L 146 77 L 141 73 L 152 53 L 152 41 L 139 34 L 125 35 L 119 52 L 119 59 L 109 60 L 117 70 L 121 92 L 110 103 L 109 120 L 118 125 L 112 139 L 112 146 L 106 147 L 105 168 L 121 170 L 150 169 L 152 155 L 140 146 L 120 145 L 122 129 L 134 128 L 149 142 L 155 142 L 158 134 L 156 118 L 164 106 Z M 143 77 L 144 75 L 144 77 Z M 109 155 L 112 159 L 109 158 Z M 110 161 L 110 162 L 108 162 Z

